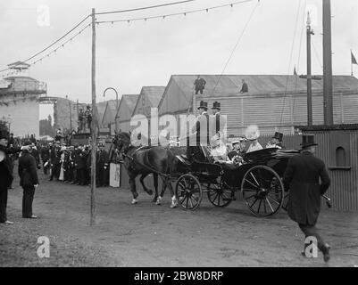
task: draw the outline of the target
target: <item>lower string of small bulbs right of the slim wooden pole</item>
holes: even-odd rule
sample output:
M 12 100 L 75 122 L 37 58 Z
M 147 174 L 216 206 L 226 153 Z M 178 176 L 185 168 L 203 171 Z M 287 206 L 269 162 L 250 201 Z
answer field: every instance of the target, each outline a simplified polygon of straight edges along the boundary
M 185 11 L 185 12 L 175 12 L 175 13 L 168 13 L 168 14 L 162 14 L 162 15 L 155 15 L 155 16 L 150 16 L 150 17 L 129 18 L 129 19 L 121 19 L 121 20 L 98 20 L 98 21 L 96 21 L 96 24 L 114 24 L 114 23 L 121 23 L 121 22 L 130 23 L 130 22 L 139 21 L 139 20 L 147 21 L 147 20 L 154 20 L 154 19 L 167 19 L 167 18 L 171 18 L 171 17 L 175 17 L 175 16 L 187 16 L 188 14 L 197 13 L 197 12 L 209 12 L 212 10 L 221 9 L 221 8 L 225 8 L 225 7 L 233 8 L 237 4 L 244 4 L 247 2 L 253 2 L 253 1 L 254 0 L 243 0 L 243 1 L 238 1 L 238 2 L 234 2 L 234 3 L 230 3 L 230 4 L 222 4 L 222 5 L 212 6 L 212 7 L 208 7 L 208 8 L 190 10 L 190 11 Z M 258 1 L 260 1 L 260 0 L 258 0 Z

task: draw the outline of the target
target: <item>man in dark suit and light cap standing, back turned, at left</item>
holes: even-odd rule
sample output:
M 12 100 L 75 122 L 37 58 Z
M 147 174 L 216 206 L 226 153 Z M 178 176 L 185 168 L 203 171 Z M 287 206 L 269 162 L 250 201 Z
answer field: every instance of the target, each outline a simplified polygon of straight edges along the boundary
M 22 217 L 36 219 L 32 215 L 32 202 L 34 200 L 35 188 L 38 186 L 37 162 L 31 155 L 31 146 L 26 145 L 21 148 L 22 154 L 19 158 L 20 185 L 23 189 L 22 196 Z

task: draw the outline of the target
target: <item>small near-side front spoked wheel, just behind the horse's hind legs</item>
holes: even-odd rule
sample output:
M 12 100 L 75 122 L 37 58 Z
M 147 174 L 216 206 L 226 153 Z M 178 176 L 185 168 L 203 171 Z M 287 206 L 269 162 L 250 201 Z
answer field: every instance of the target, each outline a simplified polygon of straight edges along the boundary
M 181 208 L 194 211 L 203 199 L 199 181 L 193 175 L 181 175 L 175 186 L 175 195 Z

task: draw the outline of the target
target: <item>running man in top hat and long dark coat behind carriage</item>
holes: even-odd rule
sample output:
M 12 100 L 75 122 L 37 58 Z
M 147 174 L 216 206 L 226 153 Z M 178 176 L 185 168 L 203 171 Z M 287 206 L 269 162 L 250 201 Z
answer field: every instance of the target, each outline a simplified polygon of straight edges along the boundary
M 329 189 L 329 174 L 324 162 L 313 155 L 317 145 L 314 135 L 304 134 L 301 145 L 301 153 L 288 160 L 283 178 L 285 190 L 289 189 L 288 216 L 299 225 L 306 238 L 316 238 L 316 246 L 328 262 L 329 245 L 322 240 L 316 223 L 321 210 L 321 195 Z

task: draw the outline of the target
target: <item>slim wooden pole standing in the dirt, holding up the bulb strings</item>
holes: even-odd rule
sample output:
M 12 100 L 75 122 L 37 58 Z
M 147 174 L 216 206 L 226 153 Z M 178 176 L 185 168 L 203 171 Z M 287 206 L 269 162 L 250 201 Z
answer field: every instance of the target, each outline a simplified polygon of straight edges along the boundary
M 91 217 L 90 225 L 96 224 L 96 10 L 92 8 L 92 150 L 91 150 Z

